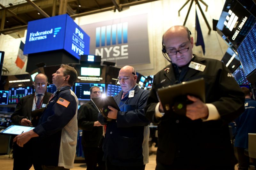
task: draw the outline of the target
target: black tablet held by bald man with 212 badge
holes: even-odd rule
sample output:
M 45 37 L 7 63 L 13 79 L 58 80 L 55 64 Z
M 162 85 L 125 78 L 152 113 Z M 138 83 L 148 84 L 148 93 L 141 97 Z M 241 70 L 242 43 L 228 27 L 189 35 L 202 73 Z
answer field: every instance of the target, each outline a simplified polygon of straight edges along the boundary
M 103 114 L 105 118 L 108 116 L 108 112 L 110 109 L 108 109 L 108 106 L 114 107 L 116 110 L 120 111 L 118 105 L 116 104 L 116 101 L 112 96 L 108 97 L 94 97 L 91 98 L 92 103 L 95 104 L 95 106 L 98 108 L 99 112 Z

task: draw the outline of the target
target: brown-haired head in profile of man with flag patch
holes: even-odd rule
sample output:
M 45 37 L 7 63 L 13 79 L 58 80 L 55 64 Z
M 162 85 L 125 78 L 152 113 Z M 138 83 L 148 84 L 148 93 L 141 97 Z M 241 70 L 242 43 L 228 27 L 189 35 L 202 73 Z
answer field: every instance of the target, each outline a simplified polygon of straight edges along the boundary
M 60 88 L 61 86 L 73 86 L 77 79 L 77 72 L 74 67 L 62 64 L 56 73 L 52 74 L 52 83 Z

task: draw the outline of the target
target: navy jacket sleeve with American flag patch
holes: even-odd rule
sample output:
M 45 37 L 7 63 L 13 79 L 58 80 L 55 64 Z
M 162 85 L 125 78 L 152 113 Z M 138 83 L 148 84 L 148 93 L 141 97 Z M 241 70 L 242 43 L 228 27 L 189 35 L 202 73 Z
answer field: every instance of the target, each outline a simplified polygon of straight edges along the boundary
M 66 90 L 65 90 L 66 91 Z M 58 104 L 59 98 L 63 98 L 70 102 L 68 107 Z M 55 134 L 64 128 L 68 122 L 76 115 L 77 102 L 76 98 L 70 93 L 63 92 L 57 96 L 56 102 L 53 104 L 51 110 L 52 115 L 47 118 L 42 124 L 33 129 L 39 136 L 47 137 Z

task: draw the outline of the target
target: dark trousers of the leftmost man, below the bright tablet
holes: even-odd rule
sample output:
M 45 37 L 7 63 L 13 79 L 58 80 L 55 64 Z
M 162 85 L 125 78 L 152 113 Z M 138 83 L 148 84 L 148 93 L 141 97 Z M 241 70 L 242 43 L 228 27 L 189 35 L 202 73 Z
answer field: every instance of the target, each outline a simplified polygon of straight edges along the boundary
M 32 165 L 35 170 L 42 170 L 38 146 L 34 142 L 35 140 L 30 140 L 23 147 L 13 143 L 13 170 L 29 170 Z

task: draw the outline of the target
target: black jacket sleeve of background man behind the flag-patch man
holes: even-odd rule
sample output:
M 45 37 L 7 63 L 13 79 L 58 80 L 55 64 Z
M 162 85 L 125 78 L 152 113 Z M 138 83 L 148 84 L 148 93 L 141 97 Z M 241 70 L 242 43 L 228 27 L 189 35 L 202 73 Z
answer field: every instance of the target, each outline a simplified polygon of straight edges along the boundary
M 78 123 L 78 128 L 82 130 L 88 130 L 92 131 L 94 121 L 88 121 L 88 114 L 90 111 L 90 108 L 87 106 L 89 105 L 82 105 L 79 110 L 78 110 L 78 115 L 77 115 L 77 123 Z

